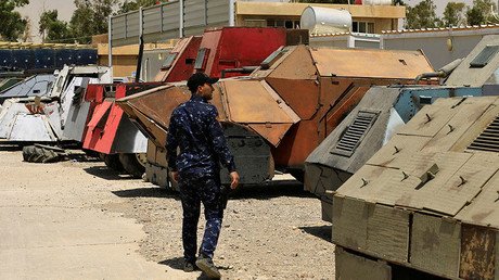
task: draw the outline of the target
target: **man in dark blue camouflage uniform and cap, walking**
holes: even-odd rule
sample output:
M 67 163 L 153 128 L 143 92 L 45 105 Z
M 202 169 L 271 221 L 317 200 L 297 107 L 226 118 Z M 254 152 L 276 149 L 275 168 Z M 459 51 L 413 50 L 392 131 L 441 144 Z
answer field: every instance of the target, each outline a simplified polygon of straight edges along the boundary
M 213 84 L 218 79 L 193 74 L 188 80 L 191 99 L 171 114 L 166 143 L 171 178 L 179 183 L 182 201 L 183 270 L 194 270 L 197 250 L 197 221 L 201 202 L 206 226 L 195 265 L 208 277 L 220 278 L 213 263 L 223 217 L 220 187 L 220 163 L 229 169 L 231 189 L 239 184 L 234 158 L 217 120 L 217 109 L 207 101 L 213 98 Z M 180 151 L 177 151 L 180 148 Z

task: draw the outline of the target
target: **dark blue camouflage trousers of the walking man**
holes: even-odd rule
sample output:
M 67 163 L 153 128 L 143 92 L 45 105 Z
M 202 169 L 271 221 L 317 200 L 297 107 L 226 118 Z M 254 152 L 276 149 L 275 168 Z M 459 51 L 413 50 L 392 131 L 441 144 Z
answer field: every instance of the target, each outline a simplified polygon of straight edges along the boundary
M 200 254 L 202 253 L 213 258 L 223 218 L 223 207 L 220 200 L 220 179 L 218 176 L 213 175 L 181 175 L 179 188 L 183 209 L 183 257 L 190 263 L 195 260 L 197 222 L 200 220 L 201 203 L 203 203 L 206 226 Z

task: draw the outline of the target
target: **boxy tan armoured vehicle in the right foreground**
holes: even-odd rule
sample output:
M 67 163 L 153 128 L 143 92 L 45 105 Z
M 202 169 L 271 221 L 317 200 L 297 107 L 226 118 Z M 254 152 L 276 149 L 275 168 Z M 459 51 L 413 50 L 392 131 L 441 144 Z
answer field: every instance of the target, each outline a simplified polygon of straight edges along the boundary
M 336 279 L 499 279 L 498 116 L 438 99 L 335 191 Z

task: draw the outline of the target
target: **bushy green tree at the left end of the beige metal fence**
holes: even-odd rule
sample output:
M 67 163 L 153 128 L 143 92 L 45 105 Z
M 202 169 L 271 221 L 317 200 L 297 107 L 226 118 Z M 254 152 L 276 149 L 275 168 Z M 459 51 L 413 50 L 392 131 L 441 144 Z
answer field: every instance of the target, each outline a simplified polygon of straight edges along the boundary
M 89 43 L 93 35 L 107 33 L 107 17 L 118 0 L 75 0 L 76 10 L 69 21 L 75 40 Z

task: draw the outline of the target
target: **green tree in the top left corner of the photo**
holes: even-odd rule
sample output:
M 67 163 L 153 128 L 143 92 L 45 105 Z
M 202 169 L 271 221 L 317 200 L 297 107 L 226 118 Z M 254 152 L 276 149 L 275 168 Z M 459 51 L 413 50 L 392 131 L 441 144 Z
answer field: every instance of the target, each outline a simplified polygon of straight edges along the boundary
M 27 21 L 14 9 L 28 3 L 29 0 L 0 0 L 0 18 L 2 21 L 0 37 L 3 40 L 15 41 L 23 36 Z

